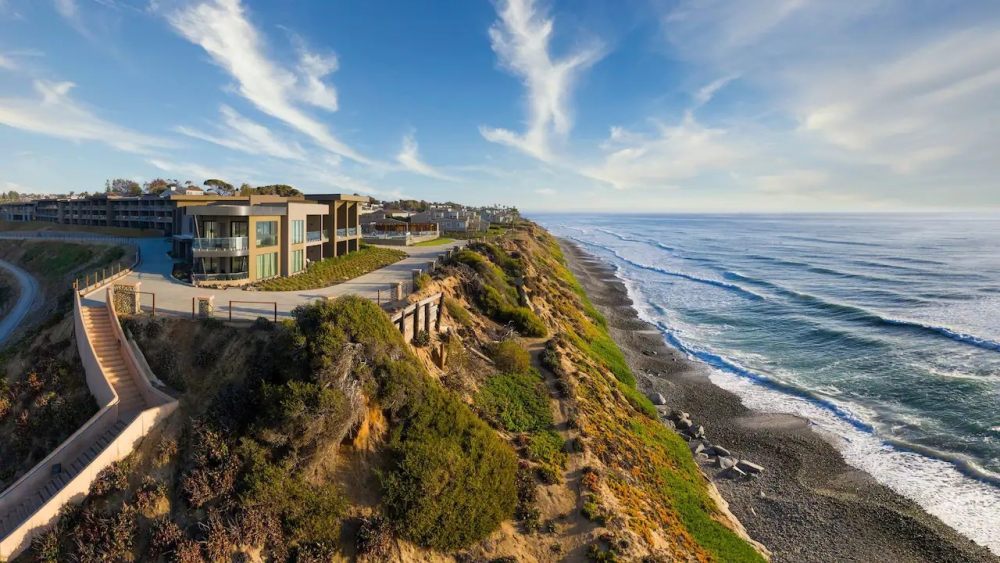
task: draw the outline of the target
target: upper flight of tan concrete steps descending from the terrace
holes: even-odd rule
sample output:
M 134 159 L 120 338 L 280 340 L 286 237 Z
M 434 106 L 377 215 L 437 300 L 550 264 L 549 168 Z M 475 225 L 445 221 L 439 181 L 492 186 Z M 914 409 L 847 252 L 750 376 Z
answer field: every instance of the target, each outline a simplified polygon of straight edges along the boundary
M 81 313 L 83 325 L 97 353 L 97 361 L 101 364 L 101 369 L 111 382 L 111 386 L 115 388 L 115 393 L 118 394 L 118 420 L 131 420 L 139 411 L 146 408 L 146 402 L 132 374 L 129 373 L 128 366 L 125 365 L 125 358 L 122 357 L 118 340 L 111 328 L 108 310 L 105 306 L 98 305 L 83 307 Z

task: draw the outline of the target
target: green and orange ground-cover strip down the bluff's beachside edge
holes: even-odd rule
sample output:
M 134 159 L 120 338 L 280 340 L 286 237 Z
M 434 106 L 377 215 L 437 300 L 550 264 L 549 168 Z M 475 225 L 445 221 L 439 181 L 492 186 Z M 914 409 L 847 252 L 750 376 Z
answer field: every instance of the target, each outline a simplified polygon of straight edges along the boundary
M 716 561 L 757 561 L 760 555 L 719 523 L 705 480 L 686 444 L 656 419 L 635 388 L 604 318 L 566 268 L 555 240 L 529 226 L 512 237 L 512 247 L 534 265 L 525 283 L 536 303 L 550 305 L 548 323 L 562 335 L 552 346 L 561 375 L 576 390 L 578 424 L 591 451 L 607 466 L 606 510 L 651 544 L 664 536 L 672 555 Z M 600 496 L 597 498 L 601 504 Z

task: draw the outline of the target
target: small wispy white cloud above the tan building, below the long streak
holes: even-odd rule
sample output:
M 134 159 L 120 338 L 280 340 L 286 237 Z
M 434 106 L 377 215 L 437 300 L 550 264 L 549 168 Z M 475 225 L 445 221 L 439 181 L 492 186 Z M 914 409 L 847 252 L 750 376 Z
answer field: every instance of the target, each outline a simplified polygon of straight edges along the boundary
M 177 127 L 176 130 L 189 137 L 247 154 L 305 160 L 306 153 L 298 143 L 275 136 L 267 127 L 247 119 L 227 105 L 223 105 L 219 112 L 222 114 L 222 123 L 217 126 L 218 134 L 204 133 L 186 126 Z

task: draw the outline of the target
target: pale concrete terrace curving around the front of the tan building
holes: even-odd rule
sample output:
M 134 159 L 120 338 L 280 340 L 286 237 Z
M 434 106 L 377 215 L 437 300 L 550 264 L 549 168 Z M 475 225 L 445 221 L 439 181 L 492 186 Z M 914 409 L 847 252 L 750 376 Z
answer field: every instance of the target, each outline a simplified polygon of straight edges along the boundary
M 409 256 L 395 264 L 390 264 L 385 268 L 375 270 L 353 280 L 320 289 L 301 291 L 246 291 L 238 287 L 229 289 L 194 287 L 189 283 L 174 278 L 171 275 L 174 261 L 167 254 L 167 251 L 170 250 L 168 239 L 102 237 L 89 233 L 49 232 L 6 232 L 0 233 L 0 238 L 135 244 L 140 248 L 142 261 L 131 274 L 121 278 L 116 283 L 141 282 L 140 291 L 148 291 L 156 294 L 157 315 L 165 314 L 190 317 L 191 299 L 212 295 L 215 297 L 215 316 L 217 317 L 228 317 L 229 301 L 231 300 L 267 301 L 277 303 L 279 319 L 289 318 L 292 309 L 299 305 L 311 303 L 317 299 L 355 294 L 376 300 L 379 298 L 379 292 L 381 291 L 381 299 L 385 301 L 389 296 L 389 288 L 396 282 L 402 281 L 406 283 L 406 290 L 409 290 L 409 282 L 412 279 L 413 270 L 421 269 L 427 271 L 438 255 L 447 252 L 455 246 L 462 246 L 466 243 L 466 241 L 454 241 L 440 246 L 393 246 L 390 248 L 406 252 Z M 84 296 L 83 305 L 101 305 L 104 303 L 105 295 L 106 292 L 103 289 L 91 292 Z M 148 309 L 152 304 L 151 297 L 149 295 L 142 295 L 141 299 L 143 309 Z M 270 318 L 273 312 L 274 305 L 271 303 L 233 304 L 234 319 L 253 320 L 260 316 Z

